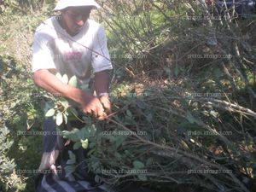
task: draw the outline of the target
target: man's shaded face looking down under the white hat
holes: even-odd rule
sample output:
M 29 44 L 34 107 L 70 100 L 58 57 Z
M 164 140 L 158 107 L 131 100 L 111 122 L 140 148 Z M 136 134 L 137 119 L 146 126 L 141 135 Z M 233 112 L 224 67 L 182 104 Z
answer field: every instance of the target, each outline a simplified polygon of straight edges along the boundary
M 74 36 L 80 32 L 90 17 L 91 7 L 70 7 L 62 12 L 61 24 L 67 33 Z

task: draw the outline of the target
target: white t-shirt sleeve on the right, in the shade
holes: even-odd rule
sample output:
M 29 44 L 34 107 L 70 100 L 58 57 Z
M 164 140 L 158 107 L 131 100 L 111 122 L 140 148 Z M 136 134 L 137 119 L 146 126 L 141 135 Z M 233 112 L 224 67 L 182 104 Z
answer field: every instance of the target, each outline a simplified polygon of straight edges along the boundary
M 102 26 L 96 32 L 91 65 L 94 73 L 113 69 L 107 47 L 107 37 Z

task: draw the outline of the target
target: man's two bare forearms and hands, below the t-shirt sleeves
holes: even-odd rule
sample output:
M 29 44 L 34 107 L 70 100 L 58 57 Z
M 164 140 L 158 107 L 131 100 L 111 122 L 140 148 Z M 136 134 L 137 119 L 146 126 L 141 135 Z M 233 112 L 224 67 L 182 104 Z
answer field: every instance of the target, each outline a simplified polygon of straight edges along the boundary
M 96 77 L 97 92 L 104 92 L 108 90 L 108 84 L 106 83 L 108 79 L 106 74 L 97 73 Z M 90 93 L 86 93 L 83 90 L 79 90 L 78 88 L 72 87 L 68 84 L 64 84 L 47 69 L 42 69 L 35 72 L 34 81 L 35 84 L 44 90 L 47 90 L 53 94 L 61 95 L 67 99 L 71 99 L 74 102 L 79 103 L 84 113 L 93 114 L 98 119 L 104 119 L 104 108 L 106 108 L 106 110 L 111 109 L 108 97 L 104 96 L 98 99 L 96 96 L 92 96 Z M 105 84 L 102 84 L 102 82 L 105 82 Z

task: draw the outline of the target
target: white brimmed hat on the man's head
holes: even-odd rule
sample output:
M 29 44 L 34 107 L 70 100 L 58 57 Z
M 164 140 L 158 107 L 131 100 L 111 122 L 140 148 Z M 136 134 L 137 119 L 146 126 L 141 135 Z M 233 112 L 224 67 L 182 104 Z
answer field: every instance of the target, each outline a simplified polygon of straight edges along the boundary
M 55 11 L 66 9 L 67 7 L 81 7 L 81 6 L 91 6 L 96 9 L 101 8 L 101 6 L 94 0 L 61 0 L 57 3 Z

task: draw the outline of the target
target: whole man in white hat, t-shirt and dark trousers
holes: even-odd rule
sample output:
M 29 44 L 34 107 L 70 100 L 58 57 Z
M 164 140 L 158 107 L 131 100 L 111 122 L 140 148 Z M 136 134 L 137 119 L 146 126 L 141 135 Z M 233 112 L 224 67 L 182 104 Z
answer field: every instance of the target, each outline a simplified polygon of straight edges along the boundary
M 90 20 L 91 9 L 98 8 L 100 6 L 94 0 L 61 0 L 57 3 L 55 11 L 60 11 L 61 15 L 45 20 L 36 30 L 32 73 L 35 84 L 40 88 L 72 100 L 85 114 L 103 119 L 103 113 L 111 110 L 108 70 L 113 67 L 109 60 L 105 32 L 96 21 Z M 55 77 L 55 73 L 67 74 L 69 79 L 75 75 L 82 86 L 89 84 L 93 73 L 96 96 L 62 83 Z M 55 121 L 46 119 L 44 131 L 55 130 Z M 67 181 L 63 175 L 56 174 L 56 166 L 60 166 L 56 165 L 56 160 L 60 159 L 59 154 L 64 146 L 60 141 L 61 137 L 54 134 L 44 136 L 44 154 L 39 170 L 50 169 L 55 174 L 41 176 L 38 179 L 37 191 L 90 189 L 88 183 L 70 183 L 76 181 L 75 177 L 69 177 Z M 83 156 L 82 148 L 77 154 Z M 80 171 L 83 171 L 83 160 L 80 161 Z M 61 170 L 63 171 L 63 167 Z M 61 185 L 63 179 L 66 179 L 66 183 Z

